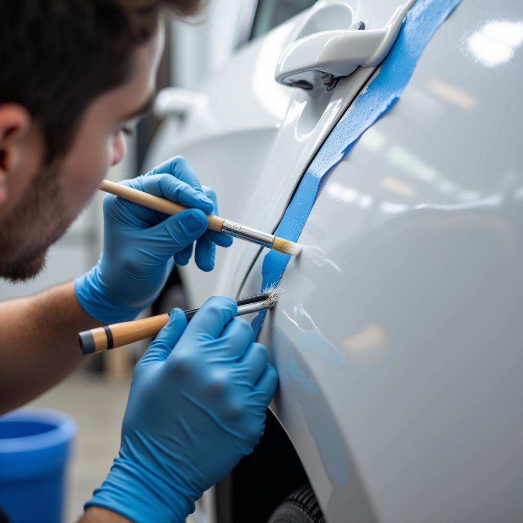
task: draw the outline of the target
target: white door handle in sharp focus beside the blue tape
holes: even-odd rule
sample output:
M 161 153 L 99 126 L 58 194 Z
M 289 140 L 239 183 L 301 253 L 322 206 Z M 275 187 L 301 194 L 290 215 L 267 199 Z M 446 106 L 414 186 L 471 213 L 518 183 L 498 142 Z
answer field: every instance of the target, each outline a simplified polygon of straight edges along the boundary
M 358 67 L 376 67 L 390 51 L 408 9 L 399 6 L 381 29 L 365 29 L 361 21 L 348 29 L 320 31 L 292 43 L 280 56 L 276 81 L 291 87 L 331 90 L 342 76 Z

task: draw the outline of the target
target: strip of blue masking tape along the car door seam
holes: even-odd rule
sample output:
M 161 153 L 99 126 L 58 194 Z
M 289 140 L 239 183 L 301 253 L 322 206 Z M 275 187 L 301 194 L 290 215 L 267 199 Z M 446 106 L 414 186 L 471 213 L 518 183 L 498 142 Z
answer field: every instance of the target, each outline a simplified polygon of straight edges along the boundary
M 394 45 L 381 64 L 379 74 L 360 93 L 316 154 L 303 176 L 289 207 L 276 229 L 276 236 L 296 242 L 311 212 L 322 178 L 347 154 L 356 140 L 400 98 L 416 62 L 438 27 L 461 0 L 418 0 L 409 10 Z M 261 270 L 262 290 L 274 288 L 290 256 L 269 251 Z M 259 333 L 265 311 L 253 320 Z

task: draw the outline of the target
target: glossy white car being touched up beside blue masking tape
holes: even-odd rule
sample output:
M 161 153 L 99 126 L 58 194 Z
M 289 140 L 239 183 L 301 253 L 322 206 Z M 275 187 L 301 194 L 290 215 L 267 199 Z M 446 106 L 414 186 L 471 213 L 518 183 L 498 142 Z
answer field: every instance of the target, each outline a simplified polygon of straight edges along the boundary
M 321 32 L 378 33 L 413 2 L 237 4 L 256 38 L 198 93 L 159 95 L 146 167 L 185 156 L 222 217 L 274 232 L 380 71 Z M 522 43 L 520 2 L 459 3 L 324 176 L 259 336 L 280 380 L 266 434 L 193 521 L 522 520 Z M 267 252 L 236 240 L 211 273 L 181 268 L 188 305 L 259 293 Z

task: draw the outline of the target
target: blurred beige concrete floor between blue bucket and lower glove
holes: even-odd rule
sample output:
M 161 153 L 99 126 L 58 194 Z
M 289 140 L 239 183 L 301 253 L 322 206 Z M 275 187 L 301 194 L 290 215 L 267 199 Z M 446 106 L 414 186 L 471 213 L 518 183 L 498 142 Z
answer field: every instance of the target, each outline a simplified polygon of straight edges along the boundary
M 105 479 L 120 448 L 120 428 L 129 394 L 130 376 L 111 382 L 78 371 L 40 396 L 32 406 L 70 414 L 78 425 L 67 493 L 66 522 L 76 522 L 83 504 Z

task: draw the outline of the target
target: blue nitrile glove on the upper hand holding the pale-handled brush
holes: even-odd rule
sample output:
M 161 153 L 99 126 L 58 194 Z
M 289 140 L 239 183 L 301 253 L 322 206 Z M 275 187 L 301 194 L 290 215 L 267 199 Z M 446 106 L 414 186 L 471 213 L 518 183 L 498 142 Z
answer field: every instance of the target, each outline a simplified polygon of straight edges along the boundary
M 103 323 L 132 320 L 149 306 L 174 261 L 188 263 L 196 240 L 196 265 L 204 271 L 214 267 L 215 244 L 232 243 L 229 236 L 207 230 L 206 214 L 218 213 L 216 195 L 203 190 L 185 158 L 171 158 L 122 184 L 191 210 L 169 216 L 113 195 L 105 197 L 104 250 L 98 264 L 74 282 L 82 308 Z

